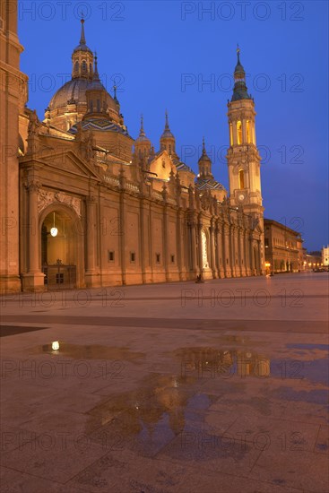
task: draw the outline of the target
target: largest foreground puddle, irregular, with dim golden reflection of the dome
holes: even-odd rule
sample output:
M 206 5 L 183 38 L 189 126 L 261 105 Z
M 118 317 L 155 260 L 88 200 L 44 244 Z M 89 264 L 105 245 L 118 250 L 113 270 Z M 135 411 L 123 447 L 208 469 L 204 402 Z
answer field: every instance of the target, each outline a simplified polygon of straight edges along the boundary
M 191 377 L 145 376 L 140 388 L 111 394 L 88 411 L 86 434 L 110 450 L 154 454 L 186 427 L 187 404 L 192 397 L 197 401 L 194 384 Z M 210 404 L 204 401 L 202 409 Z

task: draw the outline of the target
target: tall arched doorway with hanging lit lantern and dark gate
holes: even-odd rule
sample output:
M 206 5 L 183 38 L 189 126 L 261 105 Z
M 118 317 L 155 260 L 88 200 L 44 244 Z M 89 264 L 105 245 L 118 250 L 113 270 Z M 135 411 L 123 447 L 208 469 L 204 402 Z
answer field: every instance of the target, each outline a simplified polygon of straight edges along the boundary
M 41 218 L 41 270 L 48 290 L 79 287 L 79 221 L 65 206 L 47 211 Z

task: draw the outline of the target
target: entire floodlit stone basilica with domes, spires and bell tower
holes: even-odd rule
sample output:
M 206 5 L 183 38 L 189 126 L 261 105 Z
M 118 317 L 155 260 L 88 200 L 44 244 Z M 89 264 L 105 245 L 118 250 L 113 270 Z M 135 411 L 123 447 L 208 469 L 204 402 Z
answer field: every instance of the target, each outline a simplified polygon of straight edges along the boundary
M 100 81 L 83 20 L 72 79 L 39 120 L 26 106 L 17 14 L 1 2 L 2 292 L 262 275 L 255 104 L 239 51 L 227 192 L 204 141 L 197 176 L 180 160 L 167 113 L 159 148 L 143 117 L 137 138 L 128 133 L 116 91 L 111 96 Z

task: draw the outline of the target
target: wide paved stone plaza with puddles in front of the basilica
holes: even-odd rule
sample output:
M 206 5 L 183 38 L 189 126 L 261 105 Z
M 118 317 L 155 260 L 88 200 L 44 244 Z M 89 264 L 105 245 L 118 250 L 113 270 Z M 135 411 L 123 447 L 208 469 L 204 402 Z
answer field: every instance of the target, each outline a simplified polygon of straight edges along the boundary
M 328 485 L 328 273 L 0 298 L 2 492 Z

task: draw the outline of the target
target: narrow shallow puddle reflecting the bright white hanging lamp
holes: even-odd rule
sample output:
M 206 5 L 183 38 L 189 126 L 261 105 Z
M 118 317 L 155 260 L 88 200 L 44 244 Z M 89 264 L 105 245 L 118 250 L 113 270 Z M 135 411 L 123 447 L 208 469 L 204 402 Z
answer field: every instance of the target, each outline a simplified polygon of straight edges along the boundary
M 143 352 L 135 352 L 128 348 L 103 346 L 100 344 L 78 345 L 67 342 L 54 341 L 29 350 L 30 354 L 49 354 L 51 356 L 66 356 L 73 359 L 125 359 L 138 363 L 138 359 L 145 357 Z

